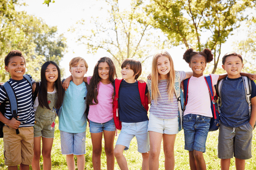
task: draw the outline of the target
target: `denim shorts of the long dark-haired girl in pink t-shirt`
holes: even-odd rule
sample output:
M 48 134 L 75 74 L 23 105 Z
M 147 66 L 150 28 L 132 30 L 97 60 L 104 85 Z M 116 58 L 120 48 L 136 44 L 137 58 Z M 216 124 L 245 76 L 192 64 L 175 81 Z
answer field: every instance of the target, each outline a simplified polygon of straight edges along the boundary
M 96 123 L 91 120 L 90 121 L 90 132 L 91 133 L 100 133 L 102 131 L 116 131 L 116 126 L 114 119 L 105 122 L 105 123 Z

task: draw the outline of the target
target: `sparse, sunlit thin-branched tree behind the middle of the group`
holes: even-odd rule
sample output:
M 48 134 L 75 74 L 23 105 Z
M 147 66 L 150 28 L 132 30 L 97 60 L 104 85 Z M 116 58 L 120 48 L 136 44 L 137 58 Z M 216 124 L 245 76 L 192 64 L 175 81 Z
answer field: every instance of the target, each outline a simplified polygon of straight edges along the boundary
M 154 49 L 167 46 L 161 32 L 138 22 L 138 18 L 146 17 L 141 13 L 142 0 L 132 0 L 131 7 L 124 10 L 120 9 L 118 0 L 104 2 L 107 12 L 103 18 L 92 17 L 91 25 L 82 20 L 71 29 L 79 35 L 77 42 L 86 45 L 89 53 L 105 50 L 113 58 L 116 69 L 120 70 L 124 59 L 137 58 L 143 63 L 152 56 Z M 90 26 L 91 30 L 88 29 Z M 81 35 L 81 32 L 86 34 Z

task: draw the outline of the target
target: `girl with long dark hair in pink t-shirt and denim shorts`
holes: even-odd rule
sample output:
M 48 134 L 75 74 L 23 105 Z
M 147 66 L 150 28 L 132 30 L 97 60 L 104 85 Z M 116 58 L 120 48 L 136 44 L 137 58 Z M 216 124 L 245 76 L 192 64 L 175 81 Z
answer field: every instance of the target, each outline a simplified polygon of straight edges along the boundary
M 108 57 L 100 58 L 94 67 L 92 77 L 87 77 L 89 84 L 87 104 L 90 105 L 88 119 L 92 138 L 92 165 L 94 170 L 100 170 L 102 151 L 102 135 L 104 135 L 107 169 L 114 170 L 115 157 L 114 138 L 115 123 L 113 120 L 113 95 L 116 68 Z

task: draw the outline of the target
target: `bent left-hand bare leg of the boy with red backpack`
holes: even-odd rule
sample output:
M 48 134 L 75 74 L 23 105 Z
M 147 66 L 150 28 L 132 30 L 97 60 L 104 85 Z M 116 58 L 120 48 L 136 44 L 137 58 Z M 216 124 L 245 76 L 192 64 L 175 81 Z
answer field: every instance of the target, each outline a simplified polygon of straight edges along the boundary
M 120 167 L 121 170 L 128 170 L 128 165 L 126 158 L 124 157 L 124 148 L 125 146 L 123 145 L 116 145 L 114 149 L 114 155 L 116 157 L 116 162 L 118 166 Z

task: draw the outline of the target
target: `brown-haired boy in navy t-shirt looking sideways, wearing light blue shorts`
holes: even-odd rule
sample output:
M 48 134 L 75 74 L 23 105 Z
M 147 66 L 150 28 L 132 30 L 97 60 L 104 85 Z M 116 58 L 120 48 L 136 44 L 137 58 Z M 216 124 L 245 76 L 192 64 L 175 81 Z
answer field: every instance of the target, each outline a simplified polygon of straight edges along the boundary
M 148 115 L 141 104 L 138 81 L 140 76 L 141 63 L 135 59 L 126 59 L 122 63 L 122 80 L 119 89 L 118 108 L 122 130 L 118 136 L 114 155 L 121 170 L 128 170 L 124 150 L 128 150 L 131 140 L 136 136 L 138 151 L 142 155 L 142 170 L 148 170 L 149 136 L 148 136 Z M 145 94 L 148 93 L 146 87 Z

